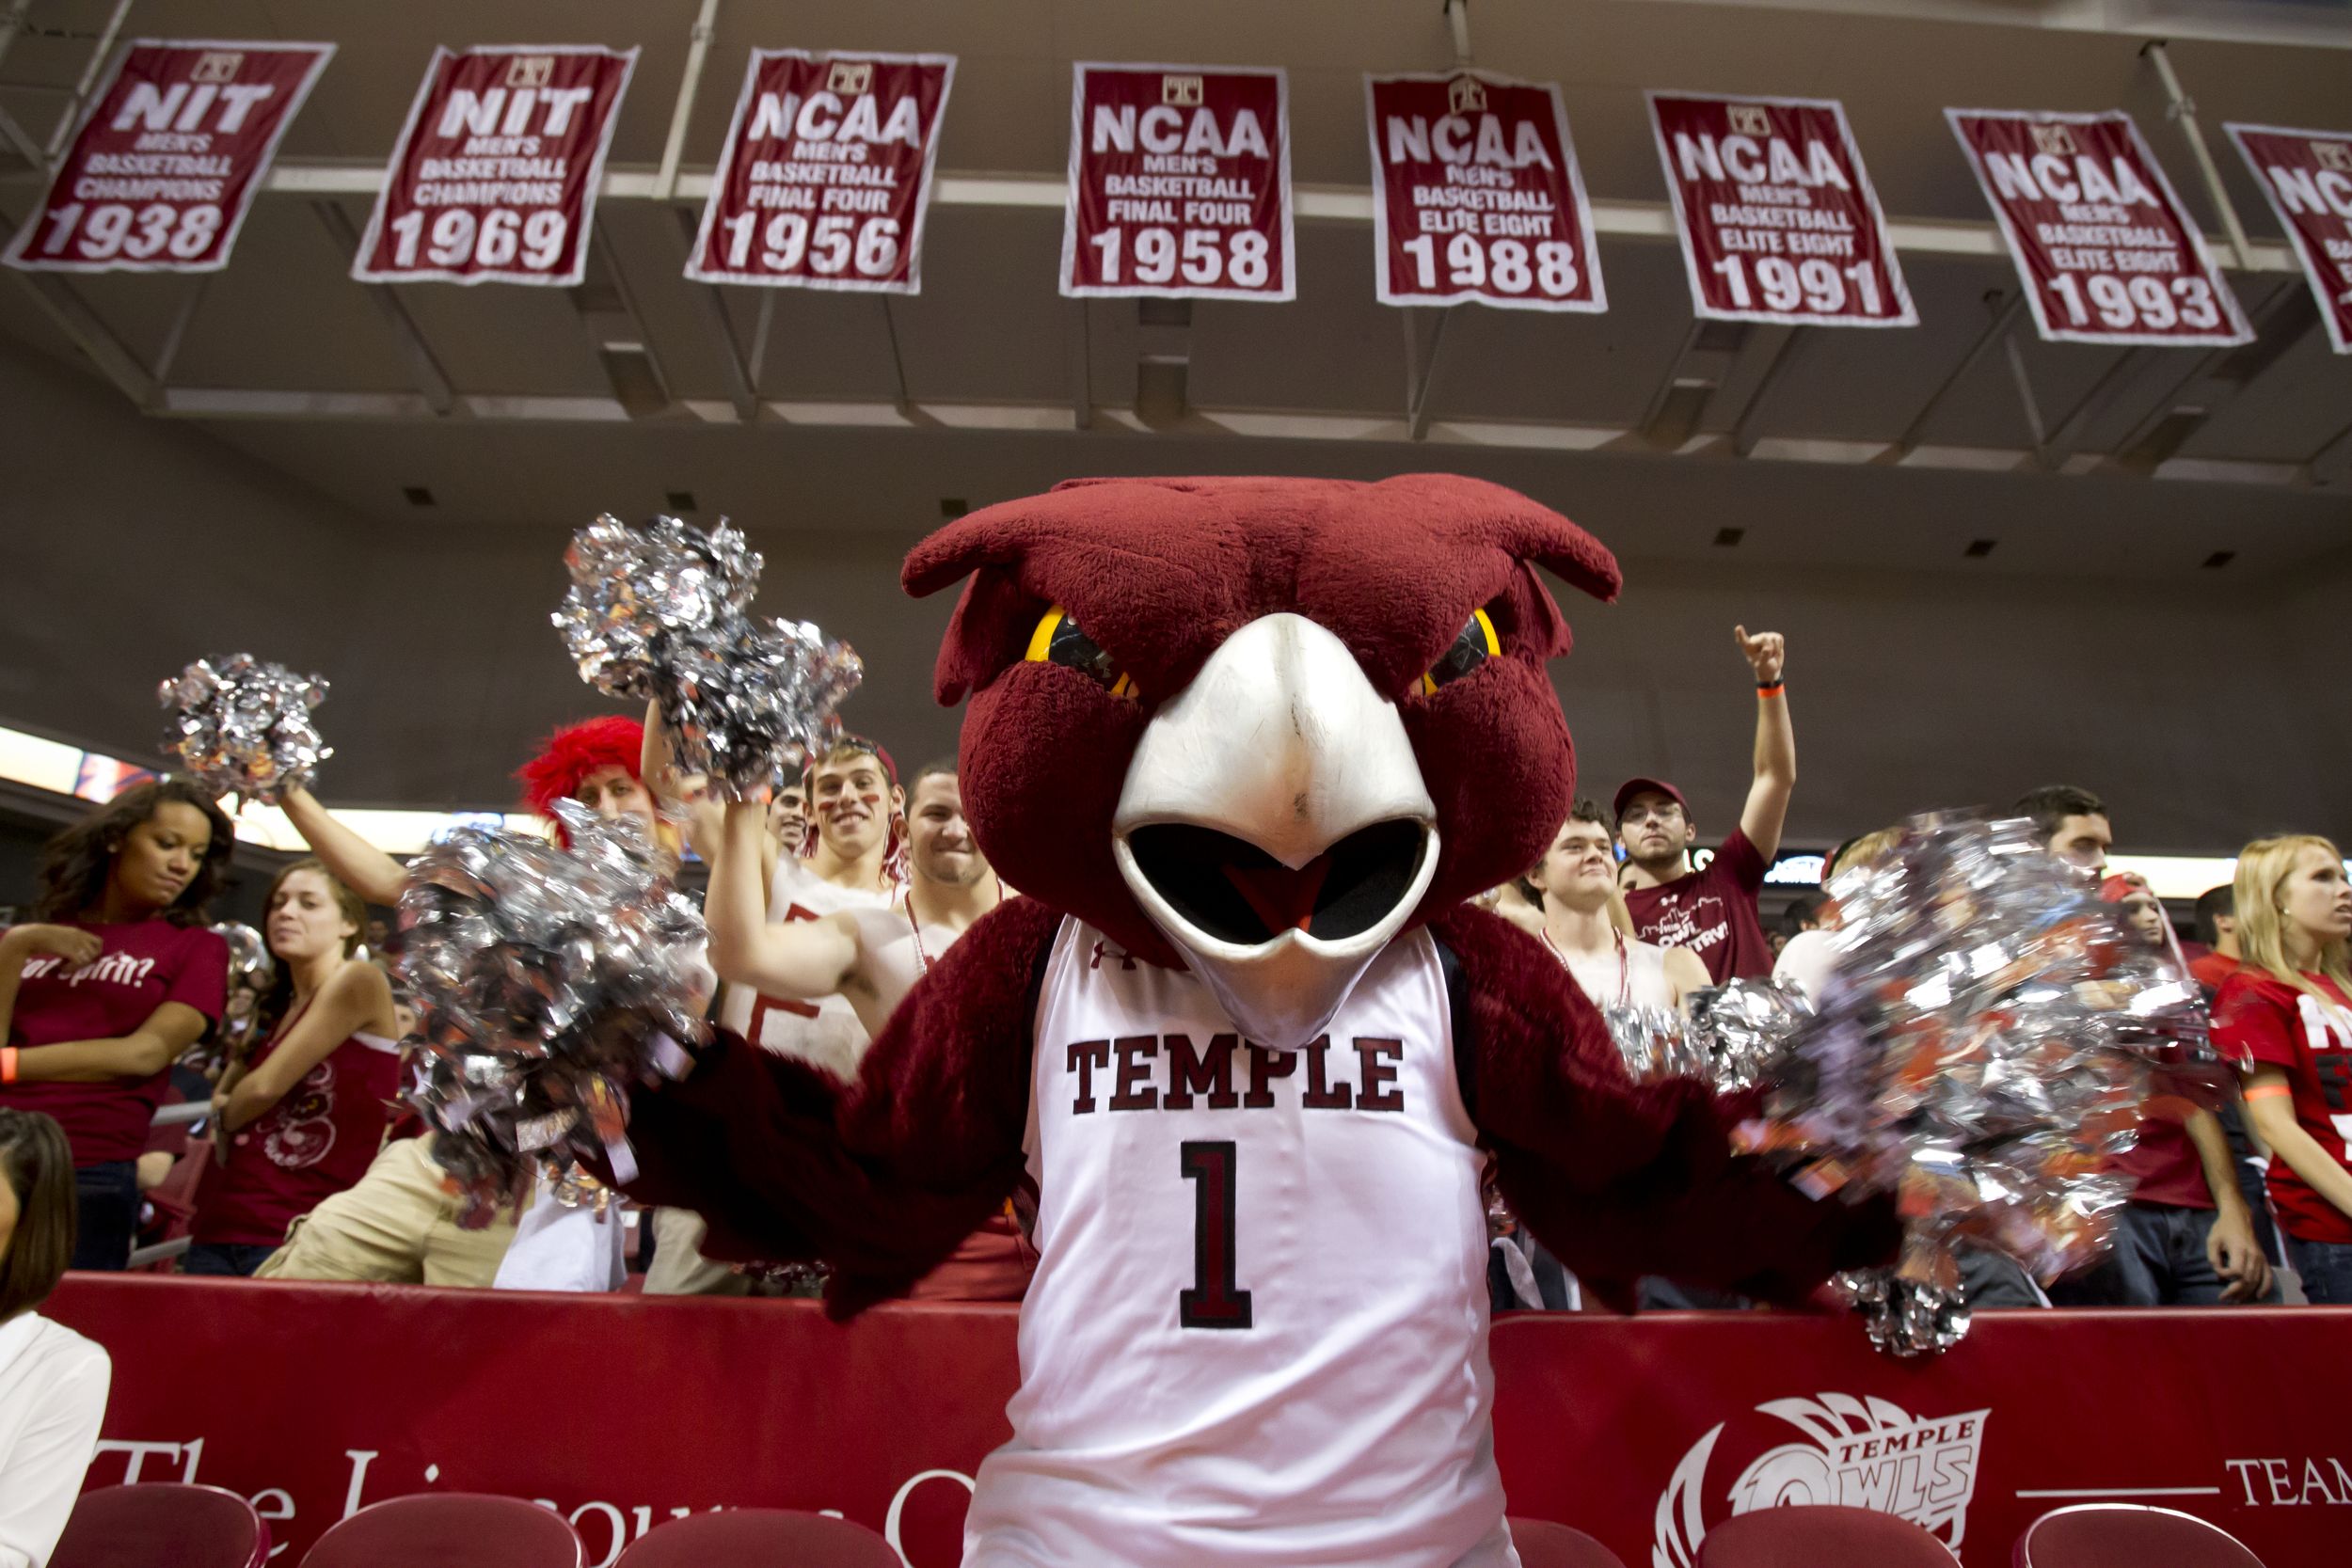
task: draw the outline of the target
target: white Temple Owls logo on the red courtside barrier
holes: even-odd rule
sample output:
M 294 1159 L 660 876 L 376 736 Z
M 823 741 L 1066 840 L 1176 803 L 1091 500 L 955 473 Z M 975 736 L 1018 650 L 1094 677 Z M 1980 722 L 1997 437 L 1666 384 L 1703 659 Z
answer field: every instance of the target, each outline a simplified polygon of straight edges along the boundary
M 1769 1399 L 1755 1415 L 1788 1422 L 1804 1441 L 1783 1441 L 1783 1427 L 1740 1415 L 1691 1443 L 1658 1497 L 1651 1568 L 1693 1568 L 1710 1523 L 1816 1502 L 1910 1519 L 1959 1552 L 1990 1410 L 1912 1415 L 1884 1399 L 1816 1394 Z M 1726 1458 L 1717 1460 L 1717 1450 Z M 1743 1453 L 1755 1458 L 1731 1472 Z

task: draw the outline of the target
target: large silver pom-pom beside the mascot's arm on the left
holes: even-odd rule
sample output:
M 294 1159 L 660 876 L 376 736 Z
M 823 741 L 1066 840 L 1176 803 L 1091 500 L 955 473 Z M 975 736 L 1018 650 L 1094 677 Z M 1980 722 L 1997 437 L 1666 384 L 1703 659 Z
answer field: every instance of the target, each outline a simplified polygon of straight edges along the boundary
M 463 1222 L 520 1204 L 543 1164 L 635 1173 L 630 1084 L 675 1077 L 710 987 L 703 922 L 644 825 L 555 802 L 572 849 L 461 827 L 409 863 L 400 973 L 419 1034 L 407 1100 L 466 1194 Z

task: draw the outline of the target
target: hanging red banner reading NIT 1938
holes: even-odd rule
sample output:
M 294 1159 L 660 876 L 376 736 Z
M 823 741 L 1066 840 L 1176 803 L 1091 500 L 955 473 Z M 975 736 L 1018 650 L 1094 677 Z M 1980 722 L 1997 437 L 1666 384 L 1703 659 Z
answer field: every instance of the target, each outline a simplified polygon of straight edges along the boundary
M 136 38 L 82 110 L 7 263 L 219 273 L 334 45 Z

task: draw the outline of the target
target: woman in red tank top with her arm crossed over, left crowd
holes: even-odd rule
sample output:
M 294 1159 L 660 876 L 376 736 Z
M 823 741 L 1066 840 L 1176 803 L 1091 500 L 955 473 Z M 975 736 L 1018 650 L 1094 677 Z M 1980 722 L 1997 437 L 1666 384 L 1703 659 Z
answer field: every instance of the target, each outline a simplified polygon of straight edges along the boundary
M 198 1197 L 186 1274 L 252 1274 L 287 1225 L 376 1159 L 400 1088 L 400 1025 L 390 980 L 353 957 L 365 929 L 367 905 L 325 863 L 296 860 L 270 882 L 268 1032 L 212 1100 L 226 1164 Z

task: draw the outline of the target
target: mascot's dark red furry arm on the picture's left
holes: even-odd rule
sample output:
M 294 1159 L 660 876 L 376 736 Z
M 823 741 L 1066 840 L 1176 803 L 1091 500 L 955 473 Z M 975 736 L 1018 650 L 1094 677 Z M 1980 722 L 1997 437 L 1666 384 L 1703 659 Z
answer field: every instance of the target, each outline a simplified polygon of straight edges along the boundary
M 701 1213 L 713 1258 L 830 1265 L 837 1316 L 901 1295 L 1021 1180 L 1058 922 L 1011 898 L 974 924 L 891 1013 L 856 1084 L 720 1034 L 682 1081 L 635 1098 L 623 1190 Z

